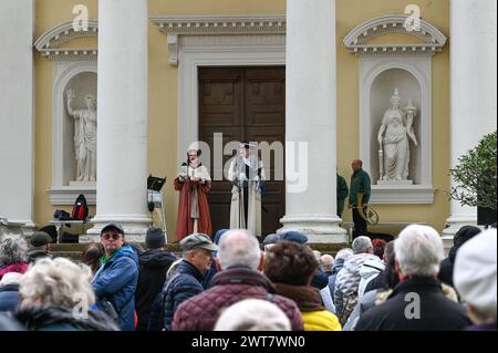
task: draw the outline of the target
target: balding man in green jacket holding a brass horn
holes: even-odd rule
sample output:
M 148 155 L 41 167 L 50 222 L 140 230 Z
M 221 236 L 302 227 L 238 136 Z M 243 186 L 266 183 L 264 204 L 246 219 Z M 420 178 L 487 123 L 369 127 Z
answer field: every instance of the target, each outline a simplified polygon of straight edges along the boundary
M 351 176 L 351 191 L 350 191 L 350 203 L 349 207 L 353 209 L 353 222 L 354 232 L 353 239 L 360 236 L 367 236 L 366 232 L 366 220 L 360 216 L 359 208 L 363 208 L 364 205 L 369 204 L 371 195 L 371 180 L 366 172 L 362 169 L 363 163 L 360 159 L 354 159 L 351 164 L 353 168 L 353 175 Z M 357 203 L 357 194 L 362 193 L 363 200 L 362 205 Z

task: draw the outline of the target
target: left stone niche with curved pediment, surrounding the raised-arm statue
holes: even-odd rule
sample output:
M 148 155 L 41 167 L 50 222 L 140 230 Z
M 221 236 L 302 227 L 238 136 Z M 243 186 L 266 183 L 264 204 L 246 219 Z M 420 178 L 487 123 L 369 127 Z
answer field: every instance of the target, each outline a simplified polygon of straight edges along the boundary
M 94 19 L 89 20 L 85 30 L 77 31 L 73 21 L 66 21 L 45 31 L 34 43 L 40 55 L 53 63 L 52 186 L 48 190 L 52 205 L 73 205 L 80 194 L 85 195 L 89 205 L 95 205 L 95 181 L 75 181 L 75 124 L 68 113 L 66 92 L 74 92 L 73 110 L 86 108 L 84 97 L 87 94 L 96 98 L 97 33 L 98 25 Z M 93 48 L 86 48 L 87 44 Z

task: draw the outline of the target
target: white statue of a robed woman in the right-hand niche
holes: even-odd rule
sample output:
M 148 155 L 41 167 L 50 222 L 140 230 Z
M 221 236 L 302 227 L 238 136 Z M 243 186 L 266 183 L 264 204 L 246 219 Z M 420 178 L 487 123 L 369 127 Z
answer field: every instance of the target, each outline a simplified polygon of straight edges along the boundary
M 382 125 L 378 128 L 380 180 L 407 180 L 409 165 L 408 137 L 415 146 L 418 145 L 413 129 L 416 107 L 409 100 L 405 113 L 400 108 L 400 94 L 397 89 L 395 89 L 390 100 L 392 106 L 384 113 Z

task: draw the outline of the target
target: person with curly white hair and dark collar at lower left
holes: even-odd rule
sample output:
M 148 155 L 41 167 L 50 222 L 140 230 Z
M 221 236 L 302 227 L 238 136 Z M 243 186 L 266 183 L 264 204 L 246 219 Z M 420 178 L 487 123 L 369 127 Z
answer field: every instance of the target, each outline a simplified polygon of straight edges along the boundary
M 117 331 L 101 312 L 90 283 L 92 271 L 64 258 L 45 258 L 20 280 L 21 303 L 15 319 L 30 331 Z

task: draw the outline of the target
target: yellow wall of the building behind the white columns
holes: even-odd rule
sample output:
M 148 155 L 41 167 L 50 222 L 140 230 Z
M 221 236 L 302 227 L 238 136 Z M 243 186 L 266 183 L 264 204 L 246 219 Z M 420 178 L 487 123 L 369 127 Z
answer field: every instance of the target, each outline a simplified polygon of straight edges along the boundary
M 86 4 L 90 18 L 97 17 L 97 0 L 37 0 L 35 38 L 52 27 L 73 19 L 72 8 Z M 398 0 L 336 0 L 338 18 L 338 166 L 346 180 L 351 175 L 350 163 L 359 156 L 359 61 L 347 53 L 342 40 L 355 25 L 373 17 L 403 13 L 409 2 Z M 422 15 L 443 33 L 449 32 L 449 1 L 417 1 Z M 149 15 L 173 14 L 284 14 L 284 0 L 149 0 Z M 149 173 L 167 176 L 164 187 L 169 240 L 176 230 L 177 197 L 173 178 L 177 173 L 178 145 L 178 70 L 168 64 L 166 37 L 152 23 L 148 30 L 149 70 Z M 400 42 L 391 37 L 386 42 Z M 383 42 L 383 38 L 375 42 Z M 416 42 L 409 40 L 408 43 Z M 64 44 L 65 48 L 94 48 L 95 39 L 80 39 Z M 94 44 L 94 45 L 92 45 Z M 52 219 L 55 208 L 50 205 L 52 180 L 52 61 L 35 55 L 35 195 L 34 219 L 40 226 Z M 449 51 L 433 58 L 433 184 L 437 189 L 434 205 L 405 205 L 376 207 L 384 221 L 426 222 L 442 229 L 449 215 L 449 203 L 443 191 L 449 188 Z M 197 104 L 193 102 L 193 104 Z M 91 208 L 91 214 L 95 209 Z M 387 216 L 388 215 L 388 216 Z M 351 216 L 345 212 L 345 220 Z

